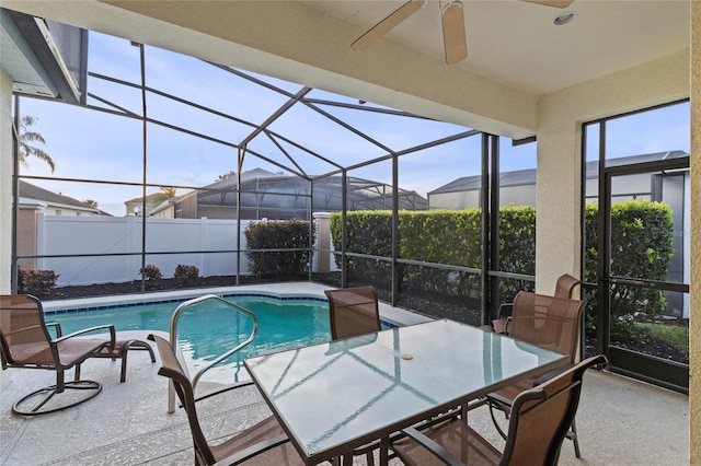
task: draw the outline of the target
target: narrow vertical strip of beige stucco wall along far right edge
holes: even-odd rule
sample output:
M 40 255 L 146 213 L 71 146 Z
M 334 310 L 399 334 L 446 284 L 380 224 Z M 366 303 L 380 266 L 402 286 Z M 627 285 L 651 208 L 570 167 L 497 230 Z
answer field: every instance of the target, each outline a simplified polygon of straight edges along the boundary
M 691 2 L 690 464 L 701 465 L 701 2 Z

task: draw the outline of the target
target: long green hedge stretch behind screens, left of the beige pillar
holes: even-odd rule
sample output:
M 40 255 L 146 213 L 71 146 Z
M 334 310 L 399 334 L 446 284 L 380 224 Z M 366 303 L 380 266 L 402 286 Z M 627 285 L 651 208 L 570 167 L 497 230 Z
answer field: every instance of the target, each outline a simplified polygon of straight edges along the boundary
M 535 273 L 535 209 L 507 207 L 502 209 L 501 215 L 502 270 Z M 391 257 L 391 211 L 350 211 L 346 218 L 347 252 Z M 341 213 L 333 213 L 330 224 L 334 247 L 340 251 Z M 480 209 L 401 211 L 399 256 L 407 260 L 479 269 L 482 261 L 481 224 Z M 342 266 L 340 256 L 336 256 L 336 265 Z M 386 261 L 350 258 L 346 271 L 350 277 L 364 277 L 377 287 L 389 288 L 391 283 L 391 265 Z M 416 265 L 400 266 L 399 275 L 403 291 L 428 291 L 449 296 L 480 295 L 479 275 Z

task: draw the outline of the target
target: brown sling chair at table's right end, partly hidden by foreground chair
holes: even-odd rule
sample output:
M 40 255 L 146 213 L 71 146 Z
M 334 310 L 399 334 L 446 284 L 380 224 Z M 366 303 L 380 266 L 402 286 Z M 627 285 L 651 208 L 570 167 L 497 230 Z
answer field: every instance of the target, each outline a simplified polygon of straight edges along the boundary
M 572 365 L 579 357 L 578 342 L 584 304 L 584 301 L 521 291 L 514 300 L 514 313 L 509 318 L 508 335 L 517 340 L 568 354 L 570 365 Z M 487 395 L 492 420 L 503 438 L 506 438 L 506 433 L 501 429 L 494 411 L 501 410 L 508 418 L 513 409 L 513 401 L 519 393 L 538 385 L 562 370 L 556 369 L 538 377 L 522 378 L 513 385 Z M 567 432 L 567 439 L 573 441 L 575 454 L 581 457 L 574 418 L 572 420 L 572 429 Z

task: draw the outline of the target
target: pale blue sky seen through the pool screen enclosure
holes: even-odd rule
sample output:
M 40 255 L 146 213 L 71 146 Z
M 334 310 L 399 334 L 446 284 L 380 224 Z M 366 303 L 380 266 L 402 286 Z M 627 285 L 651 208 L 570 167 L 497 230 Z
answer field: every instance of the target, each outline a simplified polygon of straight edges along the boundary
M 195 102 L 221 114 L 260 124 L 289 98 L 198 59 L 149 46 L 146 46 L 145 50 L 147 86 Z M 129 83 L 140 83 L 139 48 L 122 38 L 91 32 L 88 67 L 89 71 L 94 73 Z M 295 94 L 302 88 L 296 83 L 248 74 L 264 80 L 288 94 Z M 117 108 L 104 103 L 106 100 L 116 104 L 119 112 L 141 114 L 142 96 L 138 89 L 90 78 L 88 92 L 88 103 L 91 105 Z M 357 104 L 356 100 L 320 90 L 312 90 L 307 96 Z M 470 130 L 458 125 L 425 119 L 329 106 L 322 108 L 392 151 L 402 151 Z M 32 129 L 46 140 L 45 144 L 38 145 L 56 163 L 56 171 L 51 174 L 44 162 L 30 158 L 26 161 L 28 167 L 21 167 L 22 175 L 127 184 L 113 186 L 104 183 L 27 179 L 30 183 L 78 200 L 95 200 L 100 209 L 114 215 L 126 213 L 125 201 L 141 197 L 140 187 L 128 185 L 141 183 L 145 176 L 143 131 L 140 120 L 35 98 L 21 98 L 20 114 L 37 118 Z M 253 131 L 253 127 L 245 123 L 215 116 L 154 93 L 147 94 L 147 116 L 225 142 L 197 138 L 159 125 L 148 125 L 147 182 L 176 186 L 177 195 L 211 184 L 219 175 L 235 171 L 234 144 Z M 625 156 L 669 150 L 688 152 L 689 127 L 688 104 L 616 119 L 607 126 L 607 153 L 609 156 Z M 275 120 L 269 129 L 342 166 L 359 164 L 387 153 L 384 149 L 321 117 L 303 105 L 294 106 L 292 112 Z M 481 167 L 480 139 L 467 138 L 401 156 L 400 187 L 426 196 L 428 191 L 459 177 L 478 175 Z M 335 170 L 333 164 L 319 161 L 281 139 L 274 141 L 260 135 L 252 140 L 249 148 L 294 167 L 276 143 L 295 159 L 300 165 L 299 170 L 309 175 L 321 175 Z M 535 143 L 512 147 L 509 139 L 502 138 L 499 145 L 502 171 L 536 167 Z M 587 153 L 587 160 L 593 160 L 594 156 L 596 154 Z M 256 167 L 290 174 L 289 171 L 246 155 L 243 171 Z M 354 170 L 348 174 L 391 183 L 391 163 L 381 162 Z M 158 188 L 150 188 L 148 194 L 156 191 Z

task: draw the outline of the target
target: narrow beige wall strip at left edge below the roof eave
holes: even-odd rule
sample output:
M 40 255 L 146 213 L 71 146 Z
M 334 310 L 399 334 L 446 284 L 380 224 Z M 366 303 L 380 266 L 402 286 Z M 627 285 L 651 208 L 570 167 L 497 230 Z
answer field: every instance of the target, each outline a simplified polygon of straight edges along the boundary
M 0 294 L 12 268 L 12 81 L 0 70 Z

